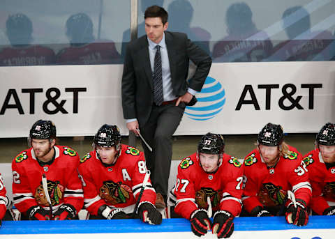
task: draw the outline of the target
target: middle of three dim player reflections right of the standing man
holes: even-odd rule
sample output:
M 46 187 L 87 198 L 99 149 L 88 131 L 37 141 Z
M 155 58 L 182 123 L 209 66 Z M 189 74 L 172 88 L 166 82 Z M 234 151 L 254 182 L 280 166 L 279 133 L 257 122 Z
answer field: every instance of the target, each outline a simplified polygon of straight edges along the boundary
M 228 36 L 214 45 L 214 62 L 264 61 L 272 43 L 265 31 L 257 29 L 253 13 L 246 3 L 232 4 L 226 13 Z

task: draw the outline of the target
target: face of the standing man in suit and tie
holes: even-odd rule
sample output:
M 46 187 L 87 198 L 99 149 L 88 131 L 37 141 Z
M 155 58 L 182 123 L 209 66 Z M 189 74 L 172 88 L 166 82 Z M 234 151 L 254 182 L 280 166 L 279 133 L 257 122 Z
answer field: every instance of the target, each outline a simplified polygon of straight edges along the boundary
M 168 29 L 168 22 L 163 24 L 161 17 L 147 17 L 145 19 L 145 32 L 154 43 L 161 42 L 166 29 Z

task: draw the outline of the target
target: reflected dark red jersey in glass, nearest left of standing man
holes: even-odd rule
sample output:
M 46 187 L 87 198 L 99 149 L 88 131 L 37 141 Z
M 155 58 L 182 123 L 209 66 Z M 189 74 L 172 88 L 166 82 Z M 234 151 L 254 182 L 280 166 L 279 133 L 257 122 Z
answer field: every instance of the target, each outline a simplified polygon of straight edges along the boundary
M 119 63 L 121 56 L 114 43 L 89 43 L 80 47 L 68 47 L 57 54 L 61 64 L 110 64 Z

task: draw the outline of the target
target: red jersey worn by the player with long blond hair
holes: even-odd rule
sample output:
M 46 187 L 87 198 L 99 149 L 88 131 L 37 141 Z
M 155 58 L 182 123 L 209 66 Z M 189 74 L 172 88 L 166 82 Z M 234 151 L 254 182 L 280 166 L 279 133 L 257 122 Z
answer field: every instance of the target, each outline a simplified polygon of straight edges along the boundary
M 272 214 L 283 214 L 291 190 L 296 199 L 307 205 L 311 199 L 311 185 L 306 166 L 296 148 L 289 146 L 290 155 L 281 157 L 273 168 L 267 168 L 260 151 L 255 148 L 244 160 L 246 187 L 242 197 L 243 206 L 251 213 L 256 206 L 264 206 Z

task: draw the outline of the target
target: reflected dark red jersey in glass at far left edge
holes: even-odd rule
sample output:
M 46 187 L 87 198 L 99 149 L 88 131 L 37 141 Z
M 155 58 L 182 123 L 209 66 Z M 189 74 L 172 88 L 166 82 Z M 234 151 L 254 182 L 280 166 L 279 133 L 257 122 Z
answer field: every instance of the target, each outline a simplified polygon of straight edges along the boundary
M 6 47 L 0 51 L 0 65 L 51 65 L 56 61 L 54 51 L 40 45 Z

